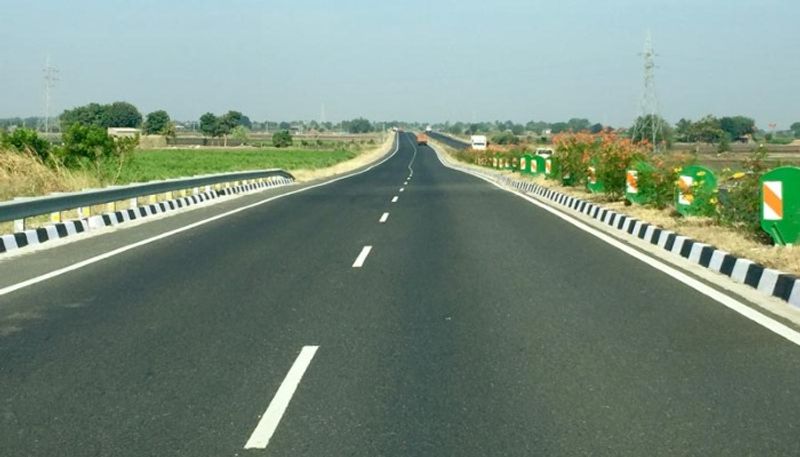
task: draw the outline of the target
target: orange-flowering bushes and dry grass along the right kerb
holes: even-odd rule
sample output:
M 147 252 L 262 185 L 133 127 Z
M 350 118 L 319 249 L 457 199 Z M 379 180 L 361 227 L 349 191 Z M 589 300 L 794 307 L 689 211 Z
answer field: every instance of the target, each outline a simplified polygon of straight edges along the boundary
M 455 159 L 476 166 L 492 166 L 497 157 L 513 163 L 534 149 L 519 146 L 491 146 L 488 150 L 455 150 L 440 145 Z M 555 163 L 552 177 L 517 174 L 562 193 L 599 203 L 606 208 L 654 223 L 720 249 L 755 260 L 765 266 L 800 275 L 800 251 L 791 246 L 773 246 L 761 230 L 759 178 L 774 168 L 764 147 L 737 162 L 736 168 L 716 173 L 719 187 L 706 192 L 701 183 L 692 188 L 692 198 L 699 204 L 692 215 L 680 213 L 675 206 L 676 183 L 685 167 L 702 162 L 697 154 L 685 152 L 653 153 L 646 141 L 634 142 L 615 132 L 596 135 L 563 133 L 553 138 Z M 590 176 L 589 168 L 594 170 Z M 626 170 L 638 170 L 638 188 L 643 204 L 626 197 Z M 510 170 L 502 171 L 511 173 Z M 590 180 L 603 183 L 590 191 Z

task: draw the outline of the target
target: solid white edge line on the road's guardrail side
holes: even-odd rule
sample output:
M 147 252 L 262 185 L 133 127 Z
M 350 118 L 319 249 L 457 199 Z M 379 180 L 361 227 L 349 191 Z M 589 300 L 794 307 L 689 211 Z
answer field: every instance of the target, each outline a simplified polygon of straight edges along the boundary
M 365 168 L 365 169 L 363 169 L 361 171 L 357 171 L 355 173 L 350 173 L 349 175 L 340 176 L 338 178 L 331 179 L 330 181 L 321 182 L 319 184 L 314 184 L 314 185 L 311 185 L 311 186 L 308 186 L 308 187 L 304 187 L 302 189 L 297 189 L 297 190 L 293 190 L 291 192 L 286 192 L 285 194 L 276 195 L 274 197 L 270 197 L 270 198 L 267 198 L 267 199 L 264 199 L 264 200 L 260 200 L 260 201 L 257 201 L 255 203 L 251 203 L 251 204 L 249 204 L 247 206 L 242 206 L 240 208 L 233 209 L 233 210 L 228 211 L 226 213 L 217 214 L 216 216 L 209 217 L 208 219 L 203 219 L 203 220 L 194 222 L 192 224 L 177 228 L 175 230 L 170 230 L 168 232 L 164 232 L 162 234 L 159 234 L 159 235 L 156 235 L 156 236 L 153 236 L 153 237 L 141 240 L 141 241 L 137 241 L 136 243 L 129 244 L 127 246 L 123 246 L 121 248 L 117 248 L 117 249 L 105 252 L 103 254 L 96 255 L 94 257 L 90 257 L 90 258 L 88 258 L 86 260 L 82 260 L 80 262 L 73 263 L 72 265 L 69 265 L 69 266 L 66 266 L 66 267 L 63 267 L 63 268 L 59 268 L 58 270 L 53 270 L 53 271 L 51 271 L 49 273 L 45 273 L 43 275 L 36 276 L 36 277 L 31 278 L 31 279 L 27 279 L 25 281 L 22 281 L 22 282 L 18 282 L 16 284 L 12 284 L 10 286 L 6 286 L 6 287 L 3 287 L 3 288 L 0 288 L 0 296 L 6 295 L 6 294 L 10 294 L 11 292 L 14 292 L 14 291 L 17 291 L 17 290 L 20 290 L 20 289 L 24 289 L 25 287 L 29 287 L 29 286 L 32 286 L 34 284 L 38 284 L 40 282 L 46 281 L 48 279 L 55 278 L 57 276 L 61 276 L 61 275 L 65 274 L 65 273 L 69 273 L 70 271 L 78 270 L 80 268 L 83 268 L 85 266 L 91 265 L 93 263 L 100 262 L 101 260 L 105 260 L 105 259 L 108 259 L 110 257 L 114 257 L 115 255 L 122 254 L 123 252 L 127 252 L 127 251 L 130 251 L 132 249 L 136 249 L 136 248 L 138 248 L 140 246 L 144 246 L 146 244 L 150 244 L 150 243 L 153 243 L 155 241 L 162 240 L 164 238 L 169 238 L 169 237 L 171 237 L 173 235 L 177 235 L 178 233 L 182 233 L 182 232 L 185 232 L 187 230 L 191 230 L 193 228 L 200 227 L 201 225 L 208 224 L 209 222 L 213 222 L 213 221 L 216 221 L 218 219 L 222 219 L 224 217 L 228 217 L 228 216 L 231 216 L 233 214 L 240 213 L 242 211 L 246 211 L 246 210 L 248 210 L 250 208 L 255 208 L 256 206 L 260 206 L 260 205 L 263 205 L 265 203 L 269 203 L 269 202 L 271 202 L 273 200 L 277 200 L 279 198 L 288 197 L 288 196 L 294 195 L 294 194 L 299 194 L 300 192 L 305 192 L 307 190 L 315 189 L 317 187 L 327 186 L 328 184 L 333 184 L 333 183 L 335 183 L 337 181 L 341 181 L 341 180 L 344 180 L 344 179 L 352 178 L 353 176 L 357 176 L 357 175 L 366 173 L 366 172 L 372 170 L 373 168 L 375 168 L 375 167 L 377 167 L 379 165 L 382 165 L 384 162 L 386 162 L 387 160 L 389 160 L 392 157 L 394 157 L 394 155 L 397 154 L 397 151 L 399 151 L 399 150 L 400 150 L 400 138 L 397 138 L 396 145 L 395 145 L 395 148 L 394 148 L 394 152 L 392 152 L 389 156 L 387 156 L 386 158 L 384 158 L 380 162 L 374 163 L 374 164 L 370 165 L 369 167 L 367 167 L 367 168 Z

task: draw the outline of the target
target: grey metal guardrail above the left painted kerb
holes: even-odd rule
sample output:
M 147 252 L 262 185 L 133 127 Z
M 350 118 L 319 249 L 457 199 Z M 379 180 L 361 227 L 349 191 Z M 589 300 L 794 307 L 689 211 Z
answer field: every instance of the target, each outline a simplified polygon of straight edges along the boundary
M 148 195 L 157 195 L 185 189 L 196 189 L 236 181 L 251 181 L 280 176 L 294 179 L 291 174 L 280 170 L 243 171 L 221 173 L 191 178 L 115 186 L 104 189 L 91 189 L 81 192 L 53 194 L 44 197 L 21 198 L 0 203 L 0 222 L 25 220 L 27 217 L 59 213 L 77 208 L 91 207 L 111 202 L 123 201 Z

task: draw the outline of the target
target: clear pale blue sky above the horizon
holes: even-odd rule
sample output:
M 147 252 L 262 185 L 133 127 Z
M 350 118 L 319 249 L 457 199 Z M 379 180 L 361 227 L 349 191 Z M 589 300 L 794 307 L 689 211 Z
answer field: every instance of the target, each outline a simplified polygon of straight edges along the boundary
M 800 120 L 798 0 L 0 0 L 0 117 L 130 101 L 173 118 L 629 124 L 647 30 L 662 114 Z

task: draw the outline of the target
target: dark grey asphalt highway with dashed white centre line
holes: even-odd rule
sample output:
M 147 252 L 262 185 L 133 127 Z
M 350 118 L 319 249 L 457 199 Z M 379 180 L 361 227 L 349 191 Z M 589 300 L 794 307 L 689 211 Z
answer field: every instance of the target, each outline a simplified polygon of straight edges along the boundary
M 2 329 L 3 456 L 800 455 L 800 348 L 409 134 L 0 295 Z

